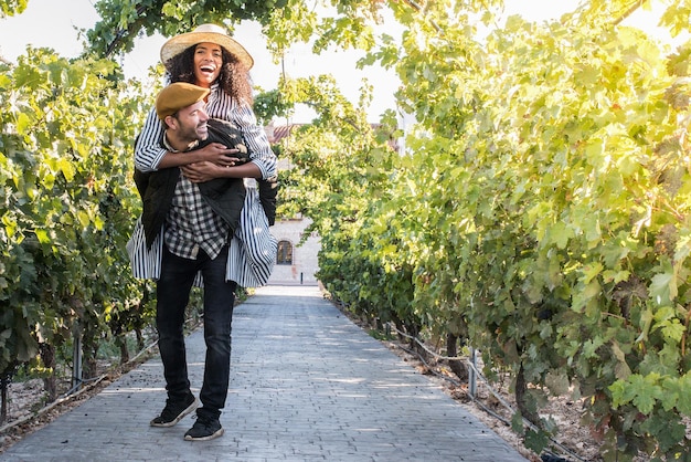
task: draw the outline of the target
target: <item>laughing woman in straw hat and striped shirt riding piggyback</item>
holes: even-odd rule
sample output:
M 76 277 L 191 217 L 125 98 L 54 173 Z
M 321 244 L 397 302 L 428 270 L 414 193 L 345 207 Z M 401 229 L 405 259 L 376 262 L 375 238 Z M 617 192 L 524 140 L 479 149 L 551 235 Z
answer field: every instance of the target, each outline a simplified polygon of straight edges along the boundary
M 136 143 L 135 167 L 142 172 L 180 167 L 193 182 L 220 176 L 246 178 L 247 196 L 241 227 L 231 240 L 227 277 L 243 287 L 264 285 L 276 255 L 276 239 L 268 225 L 274 221 L 277 171 L 276 156 L 252 111 L 248 71 L 254 60 L 223 28 L 203 24 L 167 41 L 161 48 L 161 61 L 170 83 L 187 82 L 210 90 L 205 99 L 209 117 L 227 120 L 241 130 L 251 161 L 236 165 L 237 158 L 233 156 L 237 150 L 220 144 L 210 144 L 191 153 L 167 150 L 160 143 L 163 127 L 156 111 L 151 109 Z M 254 179 L 259 180 L 262 192 L 269 196 L 263 198 L 268 213 L 263 212 Z M 149 266 L 156 267 L 157 264 L 153 262 Z M 150 272 L 147 273 L 145 277 L 151 276 Z

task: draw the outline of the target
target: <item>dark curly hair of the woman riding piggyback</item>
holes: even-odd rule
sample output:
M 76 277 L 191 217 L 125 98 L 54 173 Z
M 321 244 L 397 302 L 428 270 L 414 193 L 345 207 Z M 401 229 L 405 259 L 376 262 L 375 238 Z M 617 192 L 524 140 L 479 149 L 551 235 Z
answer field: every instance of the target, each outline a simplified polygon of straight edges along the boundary
M 166 62 L 166 72 L 170 78 L 170 83 L 187 82 L 194 83 L 194 50 L 196 45 L 192 45 Z M 231 95 L 238 104 L 247 104 L 252 106 L 254 97 L 252 94 L 252 81 L 249 78 L 249 70 L 241 63 L 237 57 L 221 48 L 223 65 L 219 74 L 219 85 Z

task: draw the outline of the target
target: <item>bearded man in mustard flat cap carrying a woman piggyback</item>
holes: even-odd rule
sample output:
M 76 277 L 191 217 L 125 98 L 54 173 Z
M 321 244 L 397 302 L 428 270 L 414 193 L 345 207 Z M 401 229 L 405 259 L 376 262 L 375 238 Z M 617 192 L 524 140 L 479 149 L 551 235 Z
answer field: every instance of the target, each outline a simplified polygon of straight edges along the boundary
M 219 143 L 204 145 L 210 146 L 206 151 L 201 148 L 210 136 L 204 111 L 208 94 L 206 88 L 174 83 L 163 88 L 156 101 L 156 112 L 164 126 L 162 146 L 170 153 L 194 157 L 198 162 L 136 175 L 147 241 L 162 239 L 156 325 L 168 399 L 160 416 L 151 420 L 152 427 L 172 427 L 198 407 L 188 378 L 183 324 L 191 287 L 198 274 L 203 279 L 206 358 L 202 407 L 184 434 L 190 441 L 223 434 L 220 416 L 230 380 L 236 288 L 236 282 L 226 277 L 228 243 L 238 228 L 245 199 L 242 178 L 257 175 L 249 164 L 234 167 L 242 164 L 238 149 Z M 217 157 L 215 162 L 202 157 L 210 150 Z

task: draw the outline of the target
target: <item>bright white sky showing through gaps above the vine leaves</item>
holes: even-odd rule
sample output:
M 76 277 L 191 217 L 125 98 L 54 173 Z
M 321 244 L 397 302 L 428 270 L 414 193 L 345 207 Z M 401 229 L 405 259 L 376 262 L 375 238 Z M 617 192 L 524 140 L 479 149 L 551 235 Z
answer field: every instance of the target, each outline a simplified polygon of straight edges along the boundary
M 65 57 L 77 56 L 82 50 L 82 41 L 77 30 L 91 29 L 98 20 L 93 7 L 96 0 L 29 0 L 26 10 L 17 17 L 0 19 L 0 55 L 13 61 L 23 54 L 26 45 L 51 48 Z M 573 11 L 578 0 L 506 0 L 508 14 L 517 13 L 531 21 L 545 21 L 559 18 Z M 68 7 L 66 4 L 68 3 Z M 627 20 L 629 25 L 639 27 L 651 33 L 663 33 L 655 28 L 656 12 L 637 12 Z M 313 56 L 307 45 L 296 45 L 286 55 L 283 66 L 274 63 L 265 48 L 261 29 L 256 23 L 240 25 L 233 36 L 254 56 L 255 66 L 251 74 L 256 86 L 267 91 L 276 87 L 281 70 L 290 77 L 302 77 L 331 73 L 336 77 L 343 94 L 357 103 L 359 88 L 363 77 L 368 77 L 374 86 L 374 101 L 369 111 L 371 122 L 387 108 L 395 108 L 393 92 L 397 77 L 393 71 L 368 67 L 366 71 L 355 69 L 357 60 L 362 52 L 338 51 Z M 159 51 L 164 38 L 153 35 L 138 39 L 135 50 L 121 61 L 128 77 L 142 78 L 149 66 L 159 60 Z M 297 111 L 290 122 L 307 123 L 313 113 L 309 109 Z

